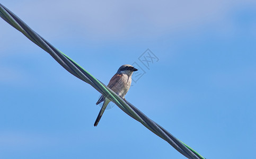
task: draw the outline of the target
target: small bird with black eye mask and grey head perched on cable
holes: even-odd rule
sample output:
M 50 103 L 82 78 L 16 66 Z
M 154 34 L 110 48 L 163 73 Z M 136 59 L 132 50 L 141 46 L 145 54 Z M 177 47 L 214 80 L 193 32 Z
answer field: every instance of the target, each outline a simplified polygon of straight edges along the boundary
M 126 93 L 130 89 L 131 86 L 131 75 L 133 75 L 133 72 L 137 71 L 138 69 L 134 68 L 131 65 L 122 65 L 119 67 L 117 70 L 117 73 L 114 74 L 114 76 L 111 78 L 109 81 L 108 87 L 117 93 L 122 99 L 125 98 Z M 103 102 L 104 101 L 104 102 Z M 103 102 L 103 105 L 101 107 L 101 110 L 98 114 L 98 117 L 94 123 L 94 126 L 97 126 L 103 112 L 107 108 L 107 105 L 109 102 L 111 102 L 108 98 L 105 98 L 103 95 L 101 95 L 100 99 L 98 102 L 96 102 L 96 105 L 100 104 Z

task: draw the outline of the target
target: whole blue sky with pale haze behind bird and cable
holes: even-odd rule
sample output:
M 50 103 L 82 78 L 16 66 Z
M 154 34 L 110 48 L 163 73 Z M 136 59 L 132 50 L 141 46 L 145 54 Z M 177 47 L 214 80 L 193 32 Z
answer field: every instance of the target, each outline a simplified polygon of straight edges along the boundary
M 137 62 L 126 99 L 202 156 L 255 157 L 255 1 L 1 3 L 105 84 Z M 185 158 L 116 105 L 94 127 L 100 94 L 0 30 L 0 158 Z

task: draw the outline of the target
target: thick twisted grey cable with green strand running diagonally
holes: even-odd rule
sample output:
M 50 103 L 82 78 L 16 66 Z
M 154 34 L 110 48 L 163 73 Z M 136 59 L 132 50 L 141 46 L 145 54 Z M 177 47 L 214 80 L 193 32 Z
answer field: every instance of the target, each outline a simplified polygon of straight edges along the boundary
M 179 139 L 175 138 L 167 130 L 162 128 L 153 120 L 149 119 L 144 113 L 138 110 L 133 104 L 126 100 L 121 99 L 116 93 L 114 93 L 109 87 L 105 86 L 102 82 L 93 77 L 89 72 L 83 69 L 80 65 L 75 63 L 68 56 L 60 52 L 54 46 L 52 46 L 48 41 L 43 39 L 39 34 L 34 32 L 27 24 L 25 24 L 19 17 L 8 10 L 5 6 L 0 4 L 0 16 L 7 23 L 12 25 L 15 29 L 22 32 L 26 37 L 28 37 L 32 42 L 36 43 L 43 50 L 48 52 L 61 66 L 63 66 L 69 73 L 73 74 L 80 80 L 90 84 L 97 91 L 99 91 L 104 96 L 107 96 L 112 102 L 117 104 L 117 106 L 127 113 L 130 117 L 141 122 L 146 128 L 151 130 L 154 134 L 166 140 L 170 145 L 172 145 L 177 151 L 191 159 L 203 159 L 199 153 L 193 150 L 188 145 L 181 142 Z

